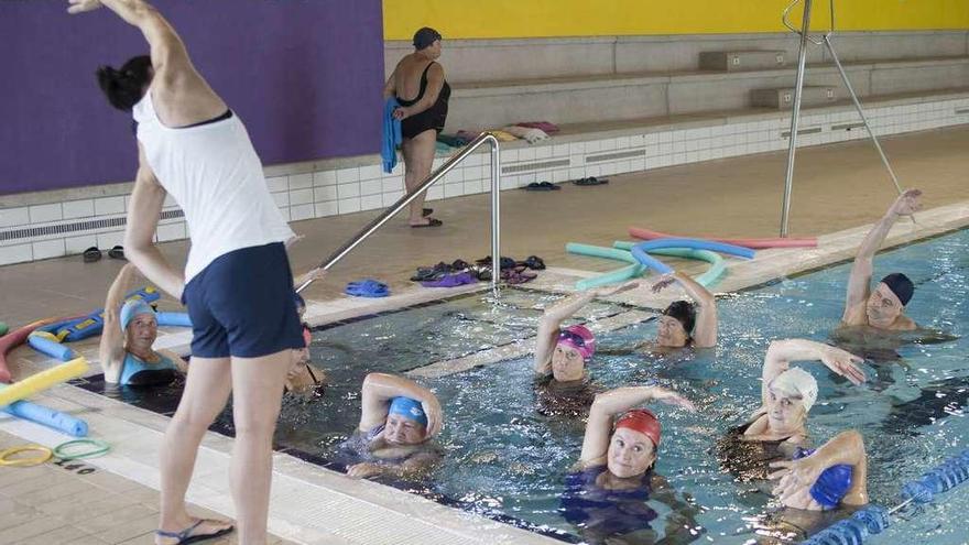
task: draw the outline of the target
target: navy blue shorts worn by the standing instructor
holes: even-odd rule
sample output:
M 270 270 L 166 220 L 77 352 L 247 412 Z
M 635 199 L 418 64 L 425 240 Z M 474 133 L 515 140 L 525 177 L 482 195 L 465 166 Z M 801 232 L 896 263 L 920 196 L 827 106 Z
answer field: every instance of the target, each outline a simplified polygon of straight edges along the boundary
M 216 258 L 185 286 L 192 355 L 259 358 L 305 348 L 282 242 Z

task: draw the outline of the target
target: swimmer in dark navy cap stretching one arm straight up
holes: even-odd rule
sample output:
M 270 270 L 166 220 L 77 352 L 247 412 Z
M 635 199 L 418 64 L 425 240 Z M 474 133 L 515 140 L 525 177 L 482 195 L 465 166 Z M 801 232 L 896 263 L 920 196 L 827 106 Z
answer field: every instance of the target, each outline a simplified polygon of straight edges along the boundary
M 848 295 L 845 314 L 841 316 L 843 327 L 869 326 L 889 331 L 911 331 L 918 327 L 904 314 L 905 306 L 915 293 L 915 285 L 908 276 L 902 273 L 889 274 L 874 290 L 871 288 L 871 277 L 875 252 L 900 217 L 912 216 L 922 208 L 919 196 L 922 192 L 918 189 L 903 193 L 861 242 L 848 279 Z

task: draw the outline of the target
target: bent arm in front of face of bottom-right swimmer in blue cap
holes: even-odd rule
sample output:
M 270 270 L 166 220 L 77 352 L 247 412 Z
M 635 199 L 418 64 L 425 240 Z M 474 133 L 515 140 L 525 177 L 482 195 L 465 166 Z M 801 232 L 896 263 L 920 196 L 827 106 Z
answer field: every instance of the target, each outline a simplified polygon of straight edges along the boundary
M 864 440 L 854 429 L 841 432 L 815 450 L 810 456 L 791 461 L 776 461 L 771 467 L 779 469 L 771 479 L 779 479 L 774 489 L 784 505 L 797 509 L 820 510 L 820 504 L 810 495 L 810 488 L 828 468 L 837 465 L 851 466 L 851 486 L 841 503 L 864 505 L 868 503 L 868 456 Z

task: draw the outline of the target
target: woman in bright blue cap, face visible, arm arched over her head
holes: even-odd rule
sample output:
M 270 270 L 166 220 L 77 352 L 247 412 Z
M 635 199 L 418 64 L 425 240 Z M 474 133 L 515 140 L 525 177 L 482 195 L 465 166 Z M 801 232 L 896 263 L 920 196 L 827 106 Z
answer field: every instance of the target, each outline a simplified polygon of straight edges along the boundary
M 437 397 L 417 383 L 386 373 L 370 373 L 361 391 L 360 424 L 350 442 L 359 444 L 362 461 L 347 475 L 413 477 L 429 469 L 439 454 L 428 445 L 440 430 Z

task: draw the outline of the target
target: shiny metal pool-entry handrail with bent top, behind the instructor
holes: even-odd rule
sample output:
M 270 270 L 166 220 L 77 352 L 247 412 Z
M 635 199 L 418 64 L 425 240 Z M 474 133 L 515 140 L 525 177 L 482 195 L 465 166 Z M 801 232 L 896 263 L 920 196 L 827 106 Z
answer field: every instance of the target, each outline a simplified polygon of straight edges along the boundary
M 443 178 L 445 174 L 454 170 L 455 166 L 458 165 L 461 161 L 468 157 L 475 150 L 477 150 L 481 144 L 484 143 L 491 144 L 491 290 L 498 288 L 498 277 L 501 272 L 500 269 L 500 260 L 501 254 L 499 252 L 500 246 L 500 237 L 501 237 L 501 199 L 499 198 L 499 193 L 501 192 L 501 155 L 498 149 L 498 139 L 494 138 L 494 134 L 490 132 L 482 132 L 478 138 L 470 141 L 468 145 L 466 145 L 462 150 L 457 152 L 454 156 L 451 156 L 447 162 L 445 162 L 440 167 L 431 173 L 431 176 L 427 177 L 416 189 L 404 195 L 396 203 L 394 203 L 390 208 L 384 210 L 383 214 L 373 218 L 372 221 L 367 224 L 367 227 L 360 229 L 357 235 L 353 236 L 347 243 L 341 246 L 337 251 L 333 252 L 328 258 L 323 260 L 319 264 L 319 269 L 324 271 L 329 270 L 333 265 L 335 265 L 338 261 L 344 259 L 353 248 L 360 242 L 363 242 L 368 237 L 373 235 L 374 231 L 380 229 L 381 226 L 386 224 L 390 218 L 394 217 L 399 211 L 403 210 L 404 207 L 411 204 L 412 200 L 417 198 L 418 195 L 426 192 L 428 187 L 434 185 L 437 181 Z M 316 279 L 307 279 L 303 282 L 297 288 L 296 293 L 305 290 L 313 281 Z

